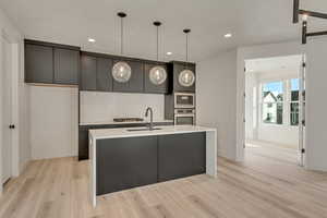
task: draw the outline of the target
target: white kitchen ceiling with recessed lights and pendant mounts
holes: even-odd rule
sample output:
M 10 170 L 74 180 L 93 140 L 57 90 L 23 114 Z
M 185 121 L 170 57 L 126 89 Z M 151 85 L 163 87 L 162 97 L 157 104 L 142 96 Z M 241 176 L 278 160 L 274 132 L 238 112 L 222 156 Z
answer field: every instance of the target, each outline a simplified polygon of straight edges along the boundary
M 301 8 L 327 12 L 326 0 L 302 0 Z M 0 0 L 0 7 L 27 38 L 81 46 L 84 50 L 119 55 L 119 19 L 125 19 L 125 56 L 155 59 L 156 31 L 164 23 L 161 60 L 184 60 L 182 29 L 190 27 L 190 59 L 254 44 L 299 39 L 292 24 L 292 0 Z M 327 21 L 310 21 L 315 29 Z M 223 38 L 232 33 L 230 39 Z M 96 44 L 89 44 L 88 37 Z M 166 52 L 173 55 L 167 57 Z

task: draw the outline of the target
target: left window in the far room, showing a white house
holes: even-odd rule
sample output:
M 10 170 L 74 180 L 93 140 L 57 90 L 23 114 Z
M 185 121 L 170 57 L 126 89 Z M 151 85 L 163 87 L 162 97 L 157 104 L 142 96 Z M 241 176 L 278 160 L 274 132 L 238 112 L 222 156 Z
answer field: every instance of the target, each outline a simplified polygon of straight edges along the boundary
M 282 124 L 283 83 L 272 82 L 263 84 L 263 122 Z

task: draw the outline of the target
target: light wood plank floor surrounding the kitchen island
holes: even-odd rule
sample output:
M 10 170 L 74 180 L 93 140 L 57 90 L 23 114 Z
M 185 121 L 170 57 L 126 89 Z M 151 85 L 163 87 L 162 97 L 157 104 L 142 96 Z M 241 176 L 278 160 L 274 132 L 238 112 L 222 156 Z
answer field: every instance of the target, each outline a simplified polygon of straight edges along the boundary
M 11 180 L 1 218 L 323 218 L 327 174 L 246 152 L 246 161 L 218 161 L 218 178 L 196 175 L 88 201 L 88 162 L 33 161 Z

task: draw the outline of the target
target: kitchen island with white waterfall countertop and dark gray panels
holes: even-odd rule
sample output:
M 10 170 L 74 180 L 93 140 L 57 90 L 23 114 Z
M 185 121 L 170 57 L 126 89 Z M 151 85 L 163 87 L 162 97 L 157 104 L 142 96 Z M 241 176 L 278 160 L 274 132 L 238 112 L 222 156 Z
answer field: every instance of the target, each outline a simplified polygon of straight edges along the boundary
M 90 197 L 173 179 L 217 175 L 215 129 L 195 125 L 89 130 Z

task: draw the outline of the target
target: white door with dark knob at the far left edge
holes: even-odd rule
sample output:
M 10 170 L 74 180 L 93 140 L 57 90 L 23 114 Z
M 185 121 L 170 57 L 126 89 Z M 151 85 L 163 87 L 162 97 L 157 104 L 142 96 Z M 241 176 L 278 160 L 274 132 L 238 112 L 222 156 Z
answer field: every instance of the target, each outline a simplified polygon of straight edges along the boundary
M 12 47 L 5 39 L 2 40 L 3 59 L 1 75 L 2 97 L 2 183 L 12 175 L 12 97 L 11 97 L 11 72 L 12 72 Z

